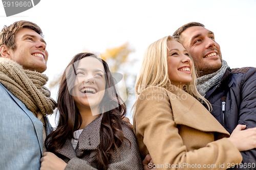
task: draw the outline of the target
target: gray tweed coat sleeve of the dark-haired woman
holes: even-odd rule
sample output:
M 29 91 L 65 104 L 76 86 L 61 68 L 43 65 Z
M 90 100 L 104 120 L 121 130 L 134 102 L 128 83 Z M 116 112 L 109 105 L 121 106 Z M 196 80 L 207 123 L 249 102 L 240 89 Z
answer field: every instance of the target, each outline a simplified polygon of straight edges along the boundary
M 133 131 L 128 125 L 123 125 L 122 130 L 124 136 L 130 140 L 130 142 L 124 139 L 123 143 L 119 147 L 119 153 L 114 152 L 114 156 L 111 158 L 109 164 L 109 170 L 126 169 L 126 170 L 142 170 L 142 162 L 139 155 L 139 150 L 136 143 L 136 138 Z M 118 156 L 120 154 L 120 157 Z M 73 158 L 68 162 L 65 170 L 93 170 L 96 168 L 92 167 L 86 160 Z

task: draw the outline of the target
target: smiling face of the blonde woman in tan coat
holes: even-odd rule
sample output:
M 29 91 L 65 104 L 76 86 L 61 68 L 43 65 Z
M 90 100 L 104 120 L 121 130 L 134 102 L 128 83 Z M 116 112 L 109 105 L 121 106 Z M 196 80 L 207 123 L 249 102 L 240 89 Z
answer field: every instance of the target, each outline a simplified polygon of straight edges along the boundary
M 183 87 L 191 82 L 193 63 L 183 45 L 175 40 L 167 41 L 167 64 L 170 82 Z

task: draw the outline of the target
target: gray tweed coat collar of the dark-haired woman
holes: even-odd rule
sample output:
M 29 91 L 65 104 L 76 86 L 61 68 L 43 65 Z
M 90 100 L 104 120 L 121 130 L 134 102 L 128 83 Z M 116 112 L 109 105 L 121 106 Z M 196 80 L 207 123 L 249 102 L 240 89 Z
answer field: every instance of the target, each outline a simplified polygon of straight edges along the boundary
M 57 153 L 72 159 L 74 157 L 82 156 L 85 151 L 97 149 L 100 144 L 100 125 L 103 114 L 104 113 L 83 128 L 78 138 L 76 149 L 73 148 L 71 140 L 67 139 L 63 147 L 57 150 Z

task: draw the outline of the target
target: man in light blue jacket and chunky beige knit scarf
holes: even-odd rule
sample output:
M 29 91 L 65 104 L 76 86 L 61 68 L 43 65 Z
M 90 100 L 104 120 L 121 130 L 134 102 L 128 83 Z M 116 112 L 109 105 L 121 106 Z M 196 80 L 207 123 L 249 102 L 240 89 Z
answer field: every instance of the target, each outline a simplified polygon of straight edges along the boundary
M 46 117 L 56 108 L 45 87 L 48 52 L 41 29 L 16 21 L 0 32 L 0 169 L 40 169 Z

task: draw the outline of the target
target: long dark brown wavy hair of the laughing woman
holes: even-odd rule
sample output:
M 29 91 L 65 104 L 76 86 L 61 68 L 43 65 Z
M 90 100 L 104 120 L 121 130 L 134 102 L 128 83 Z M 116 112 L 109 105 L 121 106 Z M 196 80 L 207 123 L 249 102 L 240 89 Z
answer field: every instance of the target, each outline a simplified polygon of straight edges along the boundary
M 84 57 L 95 57 L 96 59 L 102 61 L 106 73 L 105 94 L 100 104 L 100 110 L 109 111 L 106 111 L 103 114 L 101 121 L 100 145 L 97 149 L 97 162 L 99 166 L 98 169 L 107 169 L 113 151 L 118 150 L 123 140 L 126 139 L 121 128 L 121 124 L 124 123 L 122 118 L 126 115 L 126 107 L 118 96 L 117 90 L 115 88 L 115 82 L 111 75 L 108 64 L 104 60 L 97 58 L 92 53 L 79 53 L 75 55 L 67 66 L 68 74 L 64 72 L 58 91 L 58 126 L 56 127 L 56 130 L 47 136 L 45 140 L 45 146 L 49 152 L 57 154 L 56 151 L 63 147 L 63 144 L 66 140 L 72 139 L 73 132 L 78 130 L 81 126 L 82 118 L 75 105 L 74 98 L 69 92 L 69 81 L 67 81 L 67 78 L 69 80 L 69 75 L 72 75 L 69 73 L 72 71 L 74 72 L 73 67 L 75 64 L 78 64 L 77 61 Z M 106 101 L 111 101 L 111 103 L 105 104 Z M 116 107 L 112 107 L 114 108 L 112 110 L 106 108 L 110 107 L 110 105 L 115 105 Z

